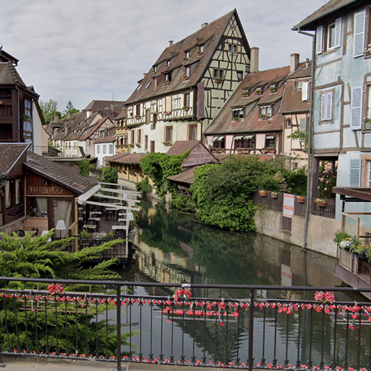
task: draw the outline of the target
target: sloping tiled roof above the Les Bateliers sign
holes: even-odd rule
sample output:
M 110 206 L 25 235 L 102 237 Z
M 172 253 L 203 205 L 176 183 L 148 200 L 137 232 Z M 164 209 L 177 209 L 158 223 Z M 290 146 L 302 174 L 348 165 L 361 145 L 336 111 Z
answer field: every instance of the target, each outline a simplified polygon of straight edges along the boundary
M 27 151 L 27 162 L 24 165 L 53 182 L 73 189 L 78 194 L 84 194 L 98 184 L 97 180 L 93 177 L 83 177 L 79 173 L 76 173 L 76 171 L 72 171 L 31 151 Z

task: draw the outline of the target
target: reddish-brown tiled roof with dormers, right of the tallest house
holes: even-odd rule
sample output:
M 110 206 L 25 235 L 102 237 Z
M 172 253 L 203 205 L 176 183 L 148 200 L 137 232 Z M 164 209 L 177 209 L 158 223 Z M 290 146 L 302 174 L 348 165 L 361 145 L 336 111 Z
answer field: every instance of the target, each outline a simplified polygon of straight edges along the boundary
M 274 111 L 272 118 L 261 120 L 259 104 L 273 104 L 282 99 L 285 89 L 283 81 L 287 79 L 288 74 L 290 74 L 290 66 L 246 74 L 212 124 L 205 130 L 205 134 L 277 132 L 282 130 L 282 118 L 278 116 L 278 110 Z M 271 93 L 270 85 L 278 84 L 280 81 L 282 81 L 281 86 L 276 93 Z M 264 86 L 263 94 L 256 95 L 255 88 L 262 86 Z M 244 88 L 253 89 L 250 97 L 242 95 Z M 240 121 L 232 120 L 232 107 L 245 106 L 251 106 L 247 109 L 247 116 Z

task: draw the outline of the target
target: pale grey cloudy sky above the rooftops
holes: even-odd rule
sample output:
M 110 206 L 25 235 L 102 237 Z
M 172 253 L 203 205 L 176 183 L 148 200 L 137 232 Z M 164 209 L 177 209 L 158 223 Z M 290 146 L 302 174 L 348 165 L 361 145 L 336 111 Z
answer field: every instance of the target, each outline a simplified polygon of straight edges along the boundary
M 327 0 L 13 0 L 1 1 L 0 45 L 41 100 L 126 100 L 168 40 L 237 9 L 260 70 L 311 56 L 311 38 L 292 26 Z

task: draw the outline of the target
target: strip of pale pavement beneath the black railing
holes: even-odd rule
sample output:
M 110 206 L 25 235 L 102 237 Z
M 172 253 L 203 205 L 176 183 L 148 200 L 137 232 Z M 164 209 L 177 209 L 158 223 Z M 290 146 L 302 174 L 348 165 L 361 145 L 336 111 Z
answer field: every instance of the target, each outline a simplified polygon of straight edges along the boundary
M 100 371 L 116 370 L 116 363 L 99 361 L 73 361 L 71 359 L 53 359 L 43 357 L 13 357 L 3 359 L 6 363 L 4 371 Z M 121 370 L 124 371 L 175 371 L 174 365 L 152 365 L 146 363 L 123 363 Z M 188 366 L 188 371 L 199 371 L 199 367 Z

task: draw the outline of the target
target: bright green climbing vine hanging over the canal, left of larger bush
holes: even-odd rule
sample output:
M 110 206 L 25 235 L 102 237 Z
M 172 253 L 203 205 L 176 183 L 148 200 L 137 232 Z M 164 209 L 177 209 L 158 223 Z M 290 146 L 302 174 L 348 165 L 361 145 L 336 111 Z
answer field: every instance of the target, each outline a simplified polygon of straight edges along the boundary
M 169 156 L 166 153 L 149 153 L 141 159 L 141 169 L 143 174 L 149 175 L 156 187 L 157 194 L 164 198 L 166 191 L 169 191 L 173 196 L 176 195 L 176 185 L 167 180 L 171 175 L 177 175 L 182 171 L 180 167 L 185 157 L 189 155 L 189 151 L 183 155 Z

